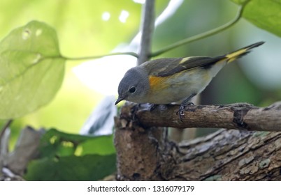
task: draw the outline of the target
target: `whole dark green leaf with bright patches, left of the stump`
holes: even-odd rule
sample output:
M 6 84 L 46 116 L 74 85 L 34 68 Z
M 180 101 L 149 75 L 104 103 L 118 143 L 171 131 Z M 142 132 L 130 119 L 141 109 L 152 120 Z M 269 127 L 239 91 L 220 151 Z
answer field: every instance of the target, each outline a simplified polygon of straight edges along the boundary
M 26 180 L 101 180 L 115 169 L 113 136 L 87 137 L 48 130 Z

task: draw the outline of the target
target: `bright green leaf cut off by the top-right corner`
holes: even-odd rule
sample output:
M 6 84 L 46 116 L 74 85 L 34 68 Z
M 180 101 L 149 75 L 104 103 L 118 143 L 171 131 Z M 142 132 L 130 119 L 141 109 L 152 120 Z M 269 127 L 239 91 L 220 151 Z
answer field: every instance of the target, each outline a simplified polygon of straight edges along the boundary
M 232 0 L 243 4 L 243 0 Z M 251 0 L 245 6 L 243 17 L 261 29 L 281 36 L 281 0 Z

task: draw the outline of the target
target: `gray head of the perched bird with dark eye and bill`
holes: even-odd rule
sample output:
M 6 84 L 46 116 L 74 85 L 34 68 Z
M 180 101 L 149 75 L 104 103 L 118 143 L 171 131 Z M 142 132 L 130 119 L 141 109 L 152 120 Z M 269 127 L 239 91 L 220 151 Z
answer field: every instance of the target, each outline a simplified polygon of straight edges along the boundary
M 134 67 L 126 72 L 118 86 L 118 99 L 115 104 L 122 100 L 145 103 L 145 95 L 149 91 L 147 73 L 143 67 Z

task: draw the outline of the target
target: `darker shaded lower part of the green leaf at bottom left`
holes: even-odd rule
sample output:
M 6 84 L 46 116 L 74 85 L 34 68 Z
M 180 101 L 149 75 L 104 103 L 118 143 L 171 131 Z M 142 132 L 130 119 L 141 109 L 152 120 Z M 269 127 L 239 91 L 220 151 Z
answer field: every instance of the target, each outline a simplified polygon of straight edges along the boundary
M 115 154 L 43 158 L 29 164 L 24 178 L 36 181 L 101 180 L 116 171 L 115 164 Z

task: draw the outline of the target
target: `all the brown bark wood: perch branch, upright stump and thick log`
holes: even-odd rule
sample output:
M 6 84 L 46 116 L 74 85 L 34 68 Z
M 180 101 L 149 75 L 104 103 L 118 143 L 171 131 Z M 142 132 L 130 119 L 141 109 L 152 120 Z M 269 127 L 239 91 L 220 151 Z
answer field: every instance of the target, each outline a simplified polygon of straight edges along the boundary
M 281 132 L 273 132 L 280 130 L 279 105 L 192 106 L 180 121 L 175 105 L 150 111 L 125 104 L 115 118 L 117 180 L 281 180 Z M 206 110 L 211 116 L 200 114 Z M 177 144 L 163 137 L 163 128 L 151 127 L 160 122 L 242 130 L 218 130 Z

